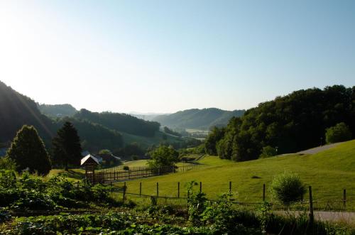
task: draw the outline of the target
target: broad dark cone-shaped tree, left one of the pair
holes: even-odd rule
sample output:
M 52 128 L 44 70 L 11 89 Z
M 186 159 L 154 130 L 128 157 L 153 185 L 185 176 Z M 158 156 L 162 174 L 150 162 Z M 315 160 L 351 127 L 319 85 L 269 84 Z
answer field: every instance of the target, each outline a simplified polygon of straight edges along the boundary
M 47 175 L 51 169 L 45 145 L 33 126 L 23 126 L 17 132 L 6 157 L 15 161 L 18 172 L 28 168 L 30 173 Z

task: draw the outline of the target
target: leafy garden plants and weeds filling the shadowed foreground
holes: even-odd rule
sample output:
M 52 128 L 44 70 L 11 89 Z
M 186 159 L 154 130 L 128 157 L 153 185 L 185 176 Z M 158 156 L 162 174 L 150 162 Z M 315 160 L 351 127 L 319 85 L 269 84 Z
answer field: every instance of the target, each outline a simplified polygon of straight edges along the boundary
M 1 170 L 0 234 L 354 234 L 342 224 L 281 217 L 268 204 L 249 212 L 209 202 L 190 182 L 188 209 L 117 200 L 111 188 Z M 107 209 L 109 208 L 109 209 Z

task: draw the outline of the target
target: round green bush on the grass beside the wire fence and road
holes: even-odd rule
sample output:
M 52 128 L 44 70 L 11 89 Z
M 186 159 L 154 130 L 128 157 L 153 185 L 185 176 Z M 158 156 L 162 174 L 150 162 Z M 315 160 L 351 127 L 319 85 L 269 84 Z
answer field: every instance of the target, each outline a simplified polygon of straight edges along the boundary
M 275 200 L 290 204 L 302 198 L 306 192 L 300 177 L 295 173 L 282 173 L 276 175 L 271 182 L 271 195 Z

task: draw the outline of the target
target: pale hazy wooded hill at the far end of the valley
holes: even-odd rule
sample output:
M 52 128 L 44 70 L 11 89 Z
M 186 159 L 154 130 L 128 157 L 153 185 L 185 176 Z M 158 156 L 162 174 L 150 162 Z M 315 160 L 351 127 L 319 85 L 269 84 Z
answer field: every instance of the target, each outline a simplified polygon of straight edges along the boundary
M 212 126 L 226 126 L 233 116 L 242 116 L 244 110 L 226 111 L 222 109 L 187 109 L 175 114 L 160 115 L 153 121 L 173 129 L 209 129 Z

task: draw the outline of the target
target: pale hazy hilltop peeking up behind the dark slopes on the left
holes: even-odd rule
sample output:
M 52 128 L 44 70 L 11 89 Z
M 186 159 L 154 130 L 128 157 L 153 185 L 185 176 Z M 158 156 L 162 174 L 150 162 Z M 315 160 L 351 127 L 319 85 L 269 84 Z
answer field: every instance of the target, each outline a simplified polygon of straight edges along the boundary
M 77 109 L 71 104 L 38 104 L 42 114 L 50 117 L 74 116 Z

